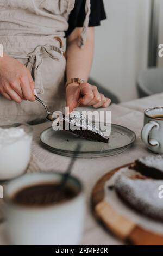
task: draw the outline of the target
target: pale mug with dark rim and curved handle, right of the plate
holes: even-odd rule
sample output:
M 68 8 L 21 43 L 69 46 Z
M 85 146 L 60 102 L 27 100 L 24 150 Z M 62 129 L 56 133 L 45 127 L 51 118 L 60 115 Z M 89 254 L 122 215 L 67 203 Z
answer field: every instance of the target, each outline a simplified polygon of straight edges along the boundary
M 141 131 L 142 141 L 154 153 L 163 153 L 163 118 L 161 115 L 163 117 L 163 107 L 147 109 L 144 115 L 144 127 Z

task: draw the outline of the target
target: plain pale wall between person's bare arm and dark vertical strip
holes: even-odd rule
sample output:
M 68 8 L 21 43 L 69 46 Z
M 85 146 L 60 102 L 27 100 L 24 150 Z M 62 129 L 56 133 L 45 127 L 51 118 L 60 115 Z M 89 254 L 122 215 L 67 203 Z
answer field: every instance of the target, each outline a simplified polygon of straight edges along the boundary
M 147 66 L 150 0 L 104 0 L 107 20 L 96 28 L 91 77 L 129 101 L 136 78 Z

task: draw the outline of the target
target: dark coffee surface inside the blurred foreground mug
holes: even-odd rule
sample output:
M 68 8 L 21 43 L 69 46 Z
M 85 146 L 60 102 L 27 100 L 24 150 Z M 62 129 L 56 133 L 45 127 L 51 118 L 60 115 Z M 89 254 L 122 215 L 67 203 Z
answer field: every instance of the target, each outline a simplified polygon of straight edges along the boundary
M 15 193 L 12 202 L 26 206 L 46 206 L 65 202 L 78 194 L 78 191 L 69 185 L 59 193 L 59 186 L 50 183 L 25 187 Z

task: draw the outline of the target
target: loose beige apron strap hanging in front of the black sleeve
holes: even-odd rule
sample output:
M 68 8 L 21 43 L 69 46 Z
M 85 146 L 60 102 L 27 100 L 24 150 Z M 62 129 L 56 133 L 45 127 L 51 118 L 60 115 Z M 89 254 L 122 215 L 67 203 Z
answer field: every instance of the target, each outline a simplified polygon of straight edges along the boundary
M 85 16 L 85 20 L 84 20 L 84 23 L 83 23 L 82 34 L 80 36 L 79 43 L 78 43 L 80 48 L 83 48 L 86 44 L 87 28 L 89 26 L 90 13 L 91 13 L 91 0 L 86 0 L 86 3 L 85 3 L 85 14 L 86 14 L 86 16 Z

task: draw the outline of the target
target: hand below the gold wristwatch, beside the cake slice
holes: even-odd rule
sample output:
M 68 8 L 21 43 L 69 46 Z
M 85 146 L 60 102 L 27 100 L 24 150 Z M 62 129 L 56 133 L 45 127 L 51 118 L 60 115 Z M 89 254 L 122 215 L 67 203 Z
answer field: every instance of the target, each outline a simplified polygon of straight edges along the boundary
M 98 92 L 96 86 L 89 83 L 76 84 L 71 83 L 66 87 L 66 106 L 71 113 L 74 108 L 82 106 L 108 107 L 111 100 Z

